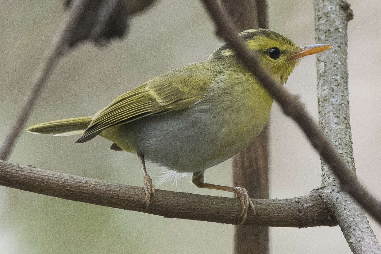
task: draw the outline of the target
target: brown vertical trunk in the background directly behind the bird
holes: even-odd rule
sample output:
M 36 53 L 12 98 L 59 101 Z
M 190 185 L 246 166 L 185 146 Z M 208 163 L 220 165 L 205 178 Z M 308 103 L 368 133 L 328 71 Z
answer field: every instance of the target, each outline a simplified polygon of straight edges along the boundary
M 239 30 L 268 28 L 266 0 L 223 0 Z M 249 147 L 233 158 L 233 184 L 244 187 L 250 198 L 269 198 L 268 127 Z M 269 228 L 235 227 L 234 253 L 269 253 Z

